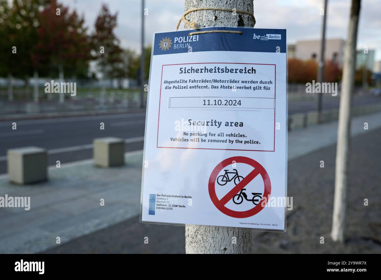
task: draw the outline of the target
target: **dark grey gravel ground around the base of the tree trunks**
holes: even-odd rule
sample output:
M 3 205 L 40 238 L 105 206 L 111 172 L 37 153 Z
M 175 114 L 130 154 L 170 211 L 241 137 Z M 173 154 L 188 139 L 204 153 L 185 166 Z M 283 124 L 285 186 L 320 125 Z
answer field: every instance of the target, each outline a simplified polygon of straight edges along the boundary
M 381 128 L 352 138 L 346 243 L 330 238 L 336 144 L 288 162 L 287 232 L 253 232 L 253 253 L 379 253 L 381 250 Z M 324 160 L 324 168 L 320 168 Z M 368 198 L 368 206 L 364 206 Z M 149 243 L 144 244 L 144 237 Z M 324 244 L 321 244 L 324 237 Z M 82 236 L 43 253 L 185 253 L 181 226 L 141 224 L 139 217 Z

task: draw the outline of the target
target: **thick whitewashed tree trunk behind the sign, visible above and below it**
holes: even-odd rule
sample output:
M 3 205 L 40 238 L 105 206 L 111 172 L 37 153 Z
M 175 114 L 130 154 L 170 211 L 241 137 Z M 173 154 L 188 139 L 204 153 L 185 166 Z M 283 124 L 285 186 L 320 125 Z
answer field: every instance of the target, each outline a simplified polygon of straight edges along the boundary
M 250 0 L 185 0 L 185 11 L 209 7 L 235 8 L 253 13 L 253 1 Z M 190 22 L 196 22 L 199 28 L 254 25 L 253 19 L 248 14 L 233 14 L 226 11 L 195 11 L 187 14 L 186 18 Z M 185 226 L 185 251 L 187 254 L 245 254 L 251 253 L 251 246 L 250 230 L 237 227 Z

